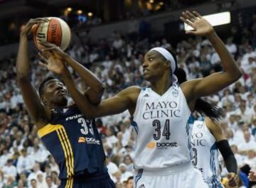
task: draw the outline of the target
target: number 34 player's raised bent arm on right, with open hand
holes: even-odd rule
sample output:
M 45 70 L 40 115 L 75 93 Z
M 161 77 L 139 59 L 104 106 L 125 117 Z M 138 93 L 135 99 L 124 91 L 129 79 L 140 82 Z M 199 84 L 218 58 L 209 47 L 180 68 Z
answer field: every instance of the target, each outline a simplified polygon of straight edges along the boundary
M 242 72 L 236 64 L 233 56 L 230 55 L 230 52 L 228 52 L 228 49 L 225 47 L 223 41 L 220 40 L 218 35 L 215 33 L 210 23 L 208 23 L 208 21 L 206 21 L 206 19 L 204 19 L 196 11 L 193 11 L 193 13 L 189 11 L 183 12 L 181 21 L 187 23 L 194 29 L 193 31 L 186 31 L 186 33 L 205 36 L 208 38 L 210 43 L 213 45 L 213 48 L 215 48 L 216 52 L 220 56 L 224 70 L 223 72 L 211 74 L 203 79 L 194 79 L 188 81 L 191 87 L 191 95 L 194 97 L 194 99 L 197 99 L 200 96 L 214 94 L 215 92 L 218 92 L 237 81 L 241 77 Z

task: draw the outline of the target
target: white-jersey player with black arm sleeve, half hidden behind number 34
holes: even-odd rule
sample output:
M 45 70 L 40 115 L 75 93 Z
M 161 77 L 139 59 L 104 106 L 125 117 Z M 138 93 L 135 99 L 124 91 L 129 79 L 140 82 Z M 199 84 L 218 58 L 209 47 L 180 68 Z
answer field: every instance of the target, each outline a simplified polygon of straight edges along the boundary
M 223 156 L 228 170 L 228 186 L 238 185 L 238 164 L 223 135 L 223 131 L 210 118 L 201 116 L 193 123 L 191 133 L 191 146 L 193 151 L 192 164 L 202 172 L 204 181 L 210 188 L 223 188 L 219 174 L 218 150 Z

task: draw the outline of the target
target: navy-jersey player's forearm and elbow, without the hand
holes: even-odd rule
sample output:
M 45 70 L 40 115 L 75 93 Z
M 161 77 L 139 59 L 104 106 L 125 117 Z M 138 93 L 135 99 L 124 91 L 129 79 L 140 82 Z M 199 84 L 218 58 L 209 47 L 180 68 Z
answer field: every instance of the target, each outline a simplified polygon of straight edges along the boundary
M 90 87 L 90 89 L 85 94 L 88 99 L 90 99 L 90 102 L 92 102 L 92 104 L 99 104 L 104 92 L 104 86 L 102 82 L 100 82 L 100 80 L 97 79 L 97 77 L 95 77 L 92 72 L 87 70 L 84 66 L 82 66 L 69 55 L 65 56 L 65 62 L 67 62 L 68 65 L 70 65 L 70 67 L 75 70 L 75 72 L 78 72 L 82 78 L 82 81 L 85 82 L 88 87 Z

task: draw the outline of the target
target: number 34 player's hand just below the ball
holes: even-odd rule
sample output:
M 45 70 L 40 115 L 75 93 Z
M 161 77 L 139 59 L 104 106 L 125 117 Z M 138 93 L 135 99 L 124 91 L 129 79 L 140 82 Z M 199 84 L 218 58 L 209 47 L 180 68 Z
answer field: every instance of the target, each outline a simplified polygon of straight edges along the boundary
M 39 52 L 38 55 L 41 57 L 43 62 L 39 62 L 40 65 L 46 67 L 48 70 L 55 74 L 65 74 L 67 67 L 65 63 L 58 57 L 55 57 L 53 53 L 49 51 Z

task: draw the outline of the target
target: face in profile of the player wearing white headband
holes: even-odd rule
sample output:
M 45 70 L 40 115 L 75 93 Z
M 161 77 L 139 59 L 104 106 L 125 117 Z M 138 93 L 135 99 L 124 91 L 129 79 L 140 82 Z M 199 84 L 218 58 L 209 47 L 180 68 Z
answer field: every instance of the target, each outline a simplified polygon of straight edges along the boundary
M 171 69 L 169 62 L 159 52 L 154 50 L 146 53 L 142 67 L 144 78 L 149 82 L 159 79 L 166 70 Z

